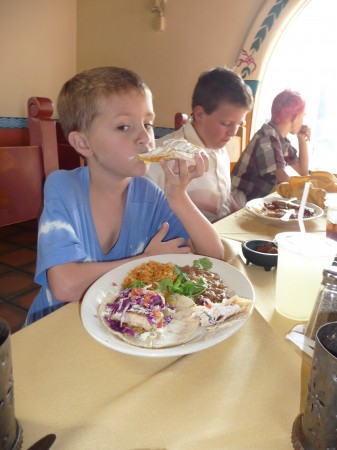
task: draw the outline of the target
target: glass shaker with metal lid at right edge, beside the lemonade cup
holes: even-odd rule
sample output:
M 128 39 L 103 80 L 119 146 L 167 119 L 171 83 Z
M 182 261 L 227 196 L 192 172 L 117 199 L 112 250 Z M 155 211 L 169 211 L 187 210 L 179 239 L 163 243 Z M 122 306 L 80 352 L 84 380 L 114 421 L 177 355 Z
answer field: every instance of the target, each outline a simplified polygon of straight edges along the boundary
M 305 335 L 315 340 L 320 326 L 337 321 L 337 266 L 323 270 L 322 284 L 319 288 L 314 308 Z

